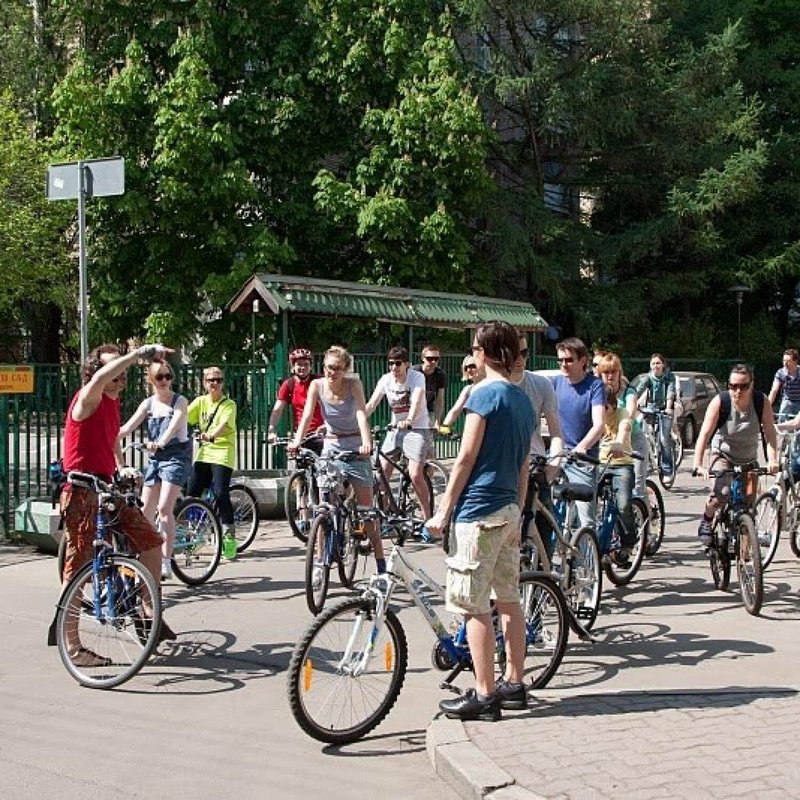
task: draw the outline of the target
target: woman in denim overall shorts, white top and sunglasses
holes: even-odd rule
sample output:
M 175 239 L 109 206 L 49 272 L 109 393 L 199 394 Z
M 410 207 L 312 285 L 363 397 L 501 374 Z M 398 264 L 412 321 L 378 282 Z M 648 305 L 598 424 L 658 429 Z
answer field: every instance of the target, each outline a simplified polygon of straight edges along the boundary
M 147 422 L 147 450 L 150 461 L 142 489 L 142 513 L 149 520 L 156 518 L 164 544 L 161 548 L 161 578 L 172 576 L 170 559 L 175 543 L 173 508 L 178 493 L 189 477 L 192 464 L 192 442 L 189 439 L 186 415 L 188 401 L 172 389 L 174 374 L 167 361 L 151 361 L 147 382 L 152 394 L 143 400 L 131 418 L 120 428 L 120 441 Z

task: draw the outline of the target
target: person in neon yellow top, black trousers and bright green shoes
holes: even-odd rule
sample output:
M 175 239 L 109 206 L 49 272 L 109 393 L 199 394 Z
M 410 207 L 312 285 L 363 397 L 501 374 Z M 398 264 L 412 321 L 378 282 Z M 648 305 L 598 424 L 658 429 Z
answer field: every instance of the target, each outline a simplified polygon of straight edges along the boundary
M 187 412 L 197 426 L 200 448 L 194 459 L 188 494 L 200 497 L 210 486 L 222 523 L 222 534 L 233 532 L 231 476 L 236 468 L 236 403 L 224 392 L 225 378 L 219 367 L 203 370 L 206 394 L 196 397 Z

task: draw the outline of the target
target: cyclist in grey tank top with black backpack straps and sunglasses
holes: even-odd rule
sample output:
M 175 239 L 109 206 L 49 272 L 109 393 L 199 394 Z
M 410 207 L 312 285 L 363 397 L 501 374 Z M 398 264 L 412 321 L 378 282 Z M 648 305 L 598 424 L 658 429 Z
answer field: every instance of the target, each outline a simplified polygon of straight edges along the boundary
M 761 409 L 760 419 L 758 407 Z M 734 465 L 757 463 L 758 441 L 762 431 L 767 445 L 768 469 L 774 475 L 778 471 L 778 451 L 772 406 L 766 401 L 763 392 L 755 391 L 750 367 L 737 364 L 731 369 L 728 391 L 720 392 L 708 404 L 703 427 L 694 448 L 692 475 L 707 479 L 709 472 L 721 472 Z M 704 467 L 703 457 L 709 441 L 711 459 L 709 466 Z M 703 545 L 711 544 L 711 522 L 724 496 L 730 493 L 731 478 L 728 474 L 714 479 L 711 495 L 697 529 Z M 747 478 L 745 494 L 752 500 L 758 490 L 758 477 L 751 474 Z

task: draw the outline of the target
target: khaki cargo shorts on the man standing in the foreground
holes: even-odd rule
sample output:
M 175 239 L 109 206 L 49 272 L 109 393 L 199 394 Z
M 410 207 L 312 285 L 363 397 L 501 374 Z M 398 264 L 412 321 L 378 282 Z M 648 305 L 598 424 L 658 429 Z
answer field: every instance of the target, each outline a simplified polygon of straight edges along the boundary
M 456 522 L 447 559 L 445 604 L 453 614 L 488 614 L 492 596 L 519 602 L 519 508 Z

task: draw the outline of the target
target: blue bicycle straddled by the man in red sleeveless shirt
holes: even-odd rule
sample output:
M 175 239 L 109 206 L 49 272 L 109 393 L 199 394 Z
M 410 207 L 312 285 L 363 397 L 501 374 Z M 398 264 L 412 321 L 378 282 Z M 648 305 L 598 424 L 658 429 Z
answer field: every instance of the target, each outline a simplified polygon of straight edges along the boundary
M 158 585 L 138 559 L 126 555 L 117 511 L 122 503 L 135 503 L 135 497 L 91 474 L 73 471 L 67 480 L 98 495 L 97 531 L 91 562 L 78 570 L 59 598 L 56 644 L 78 683 L 110 689 L 132 678 L 158 644 Z M 87 656 L 92 666 L 80 663 Z

